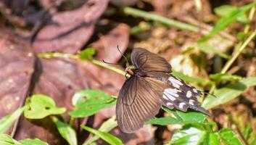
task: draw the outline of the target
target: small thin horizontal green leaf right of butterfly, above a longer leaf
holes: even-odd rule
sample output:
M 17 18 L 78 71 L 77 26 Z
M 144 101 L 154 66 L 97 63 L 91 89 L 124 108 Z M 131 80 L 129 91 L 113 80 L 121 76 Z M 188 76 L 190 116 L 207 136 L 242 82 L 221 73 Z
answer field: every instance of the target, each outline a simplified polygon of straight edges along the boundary
M 215 73 L 215 74 L 211 74 L 209 75 L 209 78 L 212 80 L 215 80 L 215 82 L 219 82 L 220 80 L 241 80 L 242 77 L 239 75 L 229 75 L 226 73 Z

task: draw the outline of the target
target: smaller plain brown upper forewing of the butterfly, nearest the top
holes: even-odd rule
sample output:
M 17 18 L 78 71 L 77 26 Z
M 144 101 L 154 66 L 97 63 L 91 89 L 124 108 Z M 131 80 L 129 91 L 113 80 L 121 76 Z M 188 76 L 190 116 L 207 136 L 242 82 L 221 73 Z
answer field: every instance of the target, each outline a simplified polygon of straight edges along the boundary
M 144 72 L 171 72 L 171 66 L 164 58 L 146 49 L 133 49 L 131 62 L 136 69 Z

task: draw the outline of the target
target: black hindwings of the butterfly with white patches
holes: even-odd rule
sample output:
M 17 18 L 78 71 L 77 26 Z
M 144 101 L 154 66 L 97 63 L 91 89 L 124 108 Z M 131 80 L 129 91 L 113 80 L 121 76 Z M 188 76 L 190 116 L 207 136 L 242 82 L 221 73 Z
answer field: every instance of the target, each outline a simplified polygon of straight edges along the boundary
M 209 115 L 209 112 L 200 107 L 197 101 L 197 96 L 202 96 L 201 91 L 165 72 L 150 72 L 149 76 L 146 78 L 147 82 L 154 83 L 153 89 L 158 92 L 159 96 L 162 96 L 162 105 L 165 107 L 176 108 L 183 112 L 191 108 Z

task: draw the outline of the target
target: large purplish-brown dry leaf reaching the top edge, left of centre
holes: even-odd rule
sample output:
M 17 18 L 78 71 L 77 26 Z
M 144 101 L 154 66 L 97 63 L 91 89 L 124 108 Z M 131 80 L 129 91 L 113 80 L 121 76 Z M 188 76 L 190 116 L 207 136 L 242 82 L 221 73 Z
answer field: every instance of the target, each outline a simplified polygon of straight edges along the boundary
M 79 9 L 54 14 L 33 42 L 36 52 L 75 53 L 91 38 L 94 22 L 106 9 L 108 0 L 89 0 Z

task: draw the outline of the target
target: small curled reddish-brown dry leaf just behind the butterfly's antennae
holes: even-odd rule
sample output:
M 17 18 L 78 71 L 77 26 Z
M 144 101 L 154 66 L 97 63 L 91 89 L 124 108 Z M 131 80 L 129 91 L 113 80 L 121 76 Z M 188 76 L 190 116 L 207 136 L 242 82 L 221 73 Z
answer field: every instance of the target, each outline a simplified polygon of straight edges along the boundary
M 92 43 L 91 46 L 97 51 L 96 59 L 104 59 L 107 62 L 117 62 L 122 55 L 117 50 L 119 47 L 122 53 L 127 49 L 129 42 L 129 26 L 119 24 L 113 28 L 107 35 L 100 36 L 99 40 Z

